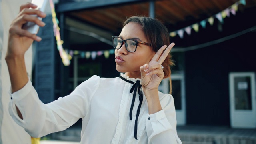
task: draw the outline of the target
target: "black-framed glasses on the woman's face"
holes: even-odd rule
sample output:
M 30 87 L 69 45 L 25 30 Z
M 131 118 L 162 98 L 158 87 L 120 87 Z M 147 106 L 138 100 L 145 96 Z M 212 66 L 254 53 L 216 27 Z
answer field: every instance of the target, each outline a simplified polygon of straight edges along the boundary
M 112 43 L 113 43 L 113 47 L 115 49 L 121 48 L 122 45 L 124 44 L 125 48 L 126 48 L 126 50 L 128 50 L 128 52 L 135 52 L 138 44 L 145 44 L 148 46 L 152 46 L 152 44 L 149 44 L 146 42 L 140 42 L 137 40 L 132 40 L 132 39 L 123 40 L 122 38 L 119 38 L 118 36 L 112 36 Z

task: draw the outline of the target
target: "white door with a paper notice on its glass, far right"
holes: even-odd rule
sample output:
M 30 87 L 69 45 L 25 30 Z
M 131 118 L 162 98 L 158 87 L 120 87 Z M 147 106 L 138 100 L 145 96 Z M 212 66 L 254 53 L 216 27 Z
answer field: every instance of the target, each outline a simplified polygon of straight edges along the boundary
M 254 72 L 229 74 L 230 124 L 232 128 L 256 128 Z

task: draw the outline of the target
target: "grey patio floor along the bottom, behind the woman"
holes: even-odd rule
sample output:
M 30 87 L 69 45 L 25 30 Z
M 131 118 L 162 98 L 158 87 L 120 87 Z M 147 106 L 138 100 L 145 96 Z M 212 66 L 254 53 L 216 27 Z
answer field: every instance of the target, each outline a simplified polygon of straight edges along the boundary
M 62 132 L 52 134 L 52 138 L 54 140 L 70 141 L 70 144 L 77 144 L 80 141 L 80 132 L 80 127 L 73 126 Z M 256 129 L 186 125 L 177 126 L 177 133 L 183 144 L 256 144 Z M 44 141 L 42 144 L 53 143 Z M 58 144 L 57 141 L 55 141 L 55 144 Z

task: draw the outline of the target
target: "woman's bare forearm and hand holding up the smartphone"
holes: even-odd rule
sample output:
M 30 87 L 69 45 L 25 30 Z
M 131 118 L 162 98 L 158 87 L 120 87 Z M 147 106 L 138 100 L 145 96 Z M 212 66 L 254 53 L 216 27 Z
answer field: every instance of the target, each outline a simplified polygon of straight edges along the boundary
M 8 49 L 5 60 L 10 74 L 12 92 L 20 90 L 28 82 L 24 54 L 32 44 L 33 40 L 38 42 L 41 40 L 41 38 L 35 34 L 31 34 L 27 30 L 22 29 L 22 25 L 26 22 L 35 22 L 39 26 L 45 25 L 44 22 L 39 20 L 37 17 L 31 16 L 37 15 L 42 18 L 46 16 L 46 14 L 39 10 L 29 9 L 36 7 L 36 5 L 31 3 L 20 6 L 20 13 L 10 25 Z M 22 118 L 17 107 L 16 109 L 20 118 Z

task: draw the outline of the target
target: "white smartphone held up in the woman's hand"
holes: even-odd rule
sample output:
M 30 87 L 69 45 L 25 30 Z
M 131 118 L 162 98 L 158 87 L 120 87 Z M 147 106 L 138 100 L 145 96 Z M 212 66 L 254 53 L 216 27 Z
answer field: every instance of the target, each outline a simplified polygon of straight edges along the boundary
M 48 0 L 32 0 L 32 4 L 37 5 L 38 10 L 44 12 L 46 5 L 48 3 Z M 32 16 L 37 16 L 37 15 L 32 15 Z M 39 20 L 42 20 L 42 18 L 38 17 Z M 37 34 L 39 26 L 35 24 L 34 22 L 27 22 L 23 24 L 22 29 L 28 30 L 32 34 Z

